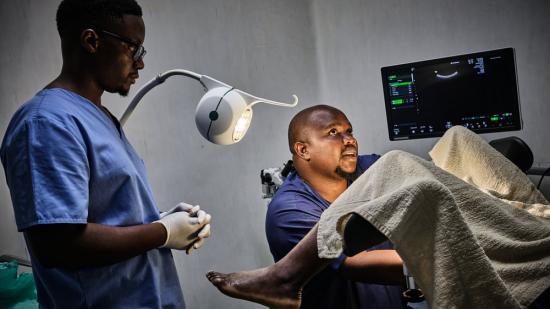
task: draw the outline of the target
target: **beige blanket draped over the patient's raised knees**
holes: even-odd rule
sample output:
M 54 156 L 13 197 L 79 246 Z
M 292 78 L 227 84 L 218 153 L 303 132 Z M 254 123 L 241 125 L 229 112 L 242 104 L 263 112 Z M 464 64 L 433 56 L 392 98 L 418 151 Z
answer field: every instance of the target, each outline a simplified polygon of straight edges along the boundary
M 357 213 L 394 243 L 431 308 L 528 306 L 550 287 L 548 202 L 462 127 L 430 155 L 392 151 L 369 168 L 323 213 L 319 257 L 342 252 Z

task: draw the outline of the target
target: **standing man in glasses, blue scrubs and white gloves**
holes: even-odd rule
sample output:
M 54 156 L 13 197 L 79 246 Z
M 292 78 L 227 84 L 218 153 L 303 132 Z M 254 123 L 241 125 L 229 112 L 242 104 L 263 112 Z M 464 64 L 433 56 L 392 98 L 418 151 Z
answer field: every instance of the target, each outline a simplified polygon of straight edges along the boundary
M 185 308 L 170 249 L 198 248 L 209 215 L 183 203 L 159 215 L 142 160 L 101 101 L 127 95 L 144 67 L 141 16 L 134 0 L 62 1 L 61 73 L 3 139 L 43 308 Z

